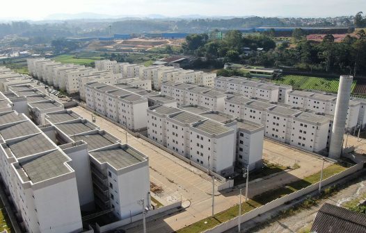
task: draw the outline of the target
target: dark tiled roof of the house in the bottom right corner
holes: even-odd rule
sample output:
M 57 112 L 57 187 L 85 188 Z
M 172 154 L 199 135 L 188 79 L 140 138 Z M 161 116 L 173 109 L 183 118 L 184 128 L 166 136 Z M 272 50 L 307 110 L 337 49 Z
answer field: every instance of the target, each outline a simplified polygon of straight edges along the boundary
M 310 232 L 366 233 L 366 215 L 325 203 L 319 209 Z

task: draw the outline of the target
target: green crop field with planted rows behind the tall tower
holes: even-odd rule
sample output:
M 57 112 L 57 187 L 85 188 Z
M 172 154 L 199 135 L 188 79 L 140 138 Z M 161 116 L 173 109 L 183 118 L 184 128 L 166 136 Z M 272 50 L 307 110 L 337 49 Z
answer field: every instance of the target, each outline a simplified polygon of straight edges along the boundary
M 278 80 L 271 80 L 273 83 L 292 85 L 294 89 L 317 89 L 323 92 L 338 91 L 340 81 L 337 78 L 319 78 L 310 76 L 286 75 Z M 356 80 L 353 80 L 351 92 L 356 87 Z

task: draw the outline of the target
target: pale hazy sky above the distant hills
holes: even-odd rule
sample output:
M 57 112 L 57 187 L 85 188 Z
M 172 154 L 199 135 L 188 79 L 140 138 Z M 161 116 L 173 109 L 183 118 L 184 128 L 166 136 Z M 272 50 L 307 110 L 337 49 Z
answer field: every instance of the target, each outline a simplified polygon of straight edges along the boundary
M 42 20 L 48 15 L 334 17 L 365 10 L 365 0 L 1 0 L 1 19 Z

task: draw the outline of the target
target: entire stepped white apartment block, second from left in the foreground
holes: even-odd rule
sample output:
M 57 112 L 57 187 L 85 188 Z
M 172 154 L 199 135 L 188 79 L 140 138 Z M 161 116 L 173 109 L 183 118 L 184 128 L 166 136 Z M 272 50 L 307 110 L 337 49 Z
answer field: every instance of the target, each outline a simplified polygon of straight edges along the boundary
M 148 157 L 80 117 L 67 110 L 47 114 L 54 130 L 45 131 L 72 158 L 81 209 L 113 208 L 119 219 L 141 214 L 137 200 L 150 207 Z

